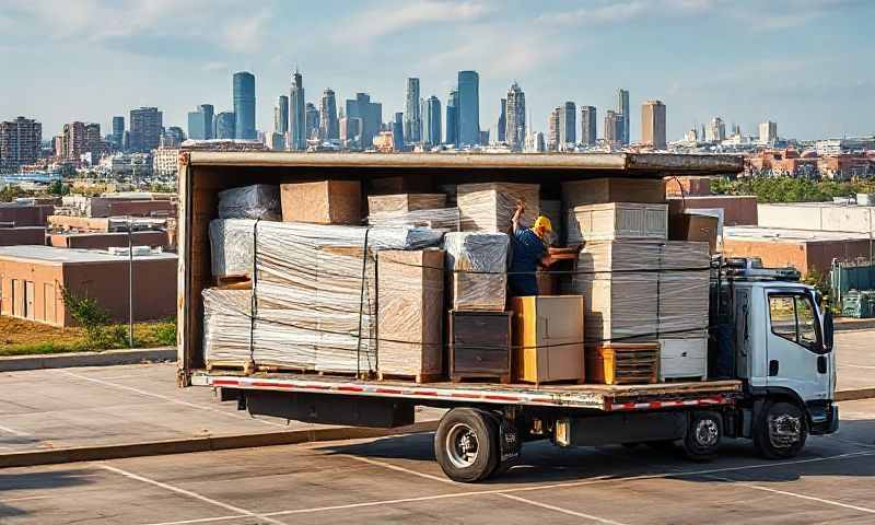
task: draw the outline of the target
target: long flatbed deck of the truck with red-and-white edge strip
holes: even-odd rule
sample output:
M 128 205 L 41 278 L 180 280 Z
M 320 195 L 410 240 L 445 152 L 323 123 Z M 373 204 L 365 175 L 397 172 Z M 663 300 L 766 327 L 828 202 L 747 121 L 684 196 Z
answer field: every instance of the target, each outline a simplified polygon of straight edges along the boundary
M 719 406 L 734 402 L 742 382 L 700 381 L 649 385 L 598 384 L 498 384 L 498 383 L 412 383 L 402 381 L 361 381 L 315 374 L 196 371 L 191 384 L 243 390 L 299 392 L 401 398 L 421 401 L 521 405 L 533 407 L 580 408 L 605 412 L 660 410 L 680 407 Z

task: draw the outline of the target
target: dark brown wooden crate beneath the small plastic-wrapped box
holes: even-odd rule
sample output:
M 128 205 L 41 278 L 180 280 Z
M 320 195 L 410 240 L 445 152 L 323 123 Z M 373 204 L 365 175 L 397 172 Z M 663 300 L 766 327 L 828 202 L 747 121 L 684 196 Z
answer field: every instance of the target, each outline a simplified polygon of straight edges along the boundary
M 511 381 L 512 312 L 450 311 L 450 380 Z

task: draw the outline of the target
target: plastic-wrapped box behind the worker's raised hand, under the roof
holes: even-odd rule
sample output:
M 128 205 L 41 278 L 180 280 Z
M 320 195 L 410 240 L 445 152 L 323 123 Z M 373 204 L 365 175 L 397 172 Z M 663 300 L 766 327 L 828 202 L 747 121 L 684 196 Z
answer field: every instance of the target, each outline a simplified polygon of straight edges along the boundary
M 508 232 L 520 201 L 526 207 L 521 220 L 523 225 L 530 226 L 539 213 L 540 186 L 537 184 L 460 184 L 456 191 L 465 232 Z

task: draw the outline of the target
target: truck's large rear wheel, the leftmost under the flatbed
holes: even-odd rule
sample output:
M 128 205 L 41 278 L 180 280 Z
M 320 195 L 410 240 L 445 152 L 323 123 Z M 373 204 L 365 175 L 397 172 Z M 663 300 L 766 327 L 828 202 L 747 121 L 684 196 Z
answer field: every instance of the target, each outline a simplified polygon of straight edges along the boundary
M 453 481 L 487 479 L 499 464 L 499 427 L 483 410 L 454 408 L 441 418 L 434 434 L 434 456 Z

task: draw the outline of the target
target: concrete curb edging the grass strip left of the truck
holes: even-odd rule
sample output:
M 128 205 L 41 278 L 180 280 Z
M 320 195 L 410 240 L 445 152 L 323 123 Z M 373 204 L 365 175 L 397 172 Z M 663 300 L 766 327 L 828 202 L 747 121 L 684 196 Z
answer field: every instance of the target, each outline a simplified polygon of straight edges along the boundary
M 0 372 L 69 369 L 74 366 L 110 366 L 115 364 L 139 364 L 143 361 L 176 361 L 176 347 L 45 355 L 10 355 L 0 358 Z

